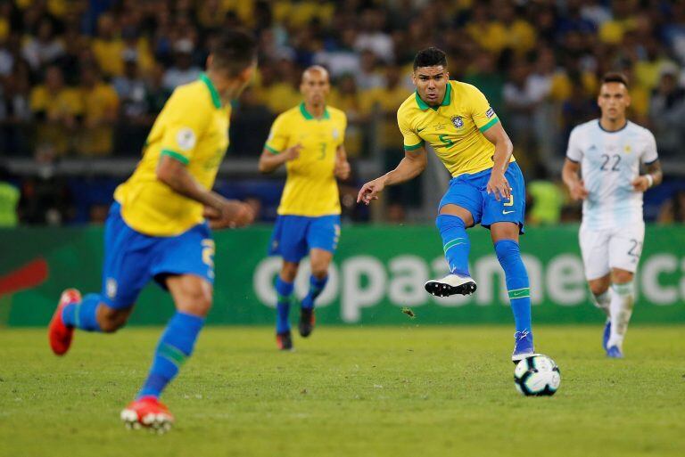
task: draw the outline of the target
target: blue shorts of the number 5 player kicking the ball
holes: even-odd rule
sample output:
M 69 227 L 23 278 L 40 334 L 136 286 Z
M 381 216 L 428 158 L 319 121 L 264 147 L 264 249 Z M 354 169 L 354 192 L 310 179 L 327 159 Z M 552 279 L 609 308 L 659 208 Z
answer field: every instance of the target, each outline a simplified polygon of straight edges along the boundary
M 473 175 L 458 175 L 450 181 L 450 189 L 440 200 L 440 208 L 445 205 L 458 205 L 466 208 L 474 216 L 474 224 L 490 228 L 496 222 L 513 222 L 518 224 L 520 233 L 524 233 L 525 217 L 525 183 L 521 168 L 511 162 L 504 176 L 511 187 L 511 198 L 499 201 L 486 192 L 492 169 L 483 170 Z

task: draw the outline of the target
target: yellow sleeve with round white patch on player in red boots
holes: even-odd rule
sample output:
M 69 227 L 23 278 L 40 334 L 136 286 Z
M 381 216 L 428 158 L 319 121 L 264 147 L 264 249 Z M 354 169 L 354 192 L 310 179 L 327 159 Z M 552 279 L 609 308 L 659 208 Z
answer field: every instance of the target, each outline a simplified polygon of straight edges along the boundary
M 208 106 L 198 106 L 197 94 L 188 90 L 175 90 L 162 113 L 166 115 L 164 135 L 161 137 L 161 155 L 167 155 L 187 165 L 193 158 L 197 140 L 210 122 Z

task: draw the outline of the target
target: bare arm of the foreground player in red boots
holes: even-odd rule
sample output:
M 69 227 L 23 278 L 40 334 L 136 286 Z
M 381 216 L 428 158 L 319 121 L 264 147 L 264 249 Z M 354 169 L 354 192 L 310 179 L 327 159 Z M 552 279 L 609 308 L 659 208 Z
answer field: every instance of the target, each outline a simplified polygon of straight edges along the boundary
M 212 229 L 242 227 L 254 220 L 252 208 L 241 201 L 227 200 L 217 192 L 208 191 L 195 181 L 186 166 L 177 159 L 161 156 L 157 178 L 174 192 L 202 203 L 205 207 L 204 216 L 210 220 Z

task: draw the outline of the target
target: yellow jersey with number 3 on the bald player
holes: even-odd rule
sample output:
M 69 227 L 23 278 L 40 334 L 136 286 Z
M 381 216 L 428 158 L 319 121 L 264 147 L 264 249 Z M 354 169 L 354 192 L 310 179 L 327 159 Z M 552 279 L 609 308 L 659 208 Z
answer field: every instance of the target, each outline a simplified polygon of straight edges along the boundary
M 297 143 L 297 159 L 286 163 L 285 189 L 279 215 L 327 216 L 340 214 L 340 194 L 334 168 L 338 146 L 345 139 L 347 117 L 342 110 L 326 107 L 314 118 L 304 103 L 285 111 L 274 121 L 264 148 L 278 154 Z

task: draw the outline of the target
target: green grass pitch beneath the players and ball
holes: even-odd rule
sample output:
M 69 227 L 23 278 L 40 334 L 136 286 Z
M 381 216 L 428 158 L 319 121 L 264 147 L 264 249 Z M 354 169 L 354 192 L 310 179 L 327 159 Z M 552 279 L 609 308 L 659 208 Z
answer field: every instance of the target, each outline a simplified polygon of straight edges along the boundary
M 683 326 L 633 326 L 607 360 L 601 326 L 535 329 L 553 397 L 514 388 L 509 327 L 324 328 L 276 351 L 271 329 L 202 332 L 163 400 L 164 436 L 126 430 L 161 329 L 0 331 L 0 455 L 683 455 Z

